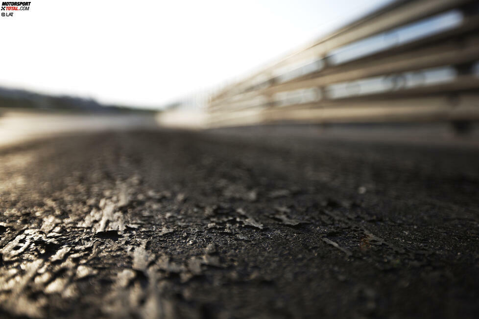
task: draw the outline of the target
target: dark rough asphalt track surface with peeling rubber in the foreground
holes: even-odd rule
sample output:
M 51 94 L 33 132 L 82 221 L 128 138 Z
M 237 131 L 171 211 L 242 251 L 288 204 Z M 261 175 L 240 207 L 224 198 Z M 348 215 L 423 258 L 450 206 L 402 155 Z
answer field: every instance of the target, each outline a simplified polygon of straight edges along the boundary
M 0 317 L 478 318 L 477 150 L 130 132 L 0 151 Z

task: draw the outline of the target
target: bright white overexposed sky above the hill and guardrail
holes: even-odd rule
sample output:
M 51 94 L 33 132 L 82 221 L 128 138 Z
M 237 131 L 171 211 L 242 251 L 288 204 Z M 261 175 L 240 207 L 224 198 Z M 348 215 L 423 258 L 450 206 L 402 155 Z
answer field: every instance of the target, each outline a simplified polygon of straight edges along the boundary
M 387 2 L 31 0 L 30 11 L 0 17 L 0 86 L 161 106 Z

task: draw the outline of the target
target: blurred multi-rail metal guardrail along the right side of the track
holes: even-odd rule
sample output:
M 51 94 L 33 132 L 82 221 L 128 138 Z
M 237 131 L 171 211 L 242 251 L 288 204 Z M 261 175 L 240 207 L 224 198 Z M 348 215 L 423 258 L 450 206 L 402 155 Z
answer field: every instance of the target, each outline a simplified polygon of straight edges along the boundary
M 479 119 L 479 1 L 396 1 L 211 98 L 210 127 Z

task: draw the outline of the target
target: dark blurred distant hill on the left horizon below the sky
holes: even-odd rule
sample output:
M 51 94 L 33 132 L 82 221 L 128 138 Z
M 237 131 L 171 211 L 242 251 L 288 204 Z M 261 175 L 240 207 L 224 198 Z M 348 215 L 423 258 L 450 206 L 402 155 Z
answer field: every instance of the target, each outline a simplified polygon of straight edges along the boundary
M 92 98 L 48 95 L 0 87 L 0 108 L 63 110 L 77 112 L 156 112 L 134 106 L 104 105 Z

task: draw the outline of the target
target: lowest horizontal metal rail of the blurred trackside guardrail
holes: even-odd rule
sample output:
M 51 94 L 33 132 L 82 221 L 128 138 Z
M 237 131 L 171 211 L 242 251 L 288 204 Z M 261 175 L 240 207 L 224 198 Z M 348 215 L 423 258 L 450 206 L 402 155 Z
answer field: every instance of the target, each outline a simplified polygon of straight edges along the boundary
M 286 122 L 479 120 L 479 94 L 435 95 L 374 101 L 341 101 L 328 107 L 243 110 L 213 118 L 210 127 Z

